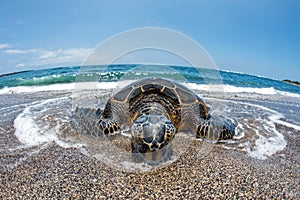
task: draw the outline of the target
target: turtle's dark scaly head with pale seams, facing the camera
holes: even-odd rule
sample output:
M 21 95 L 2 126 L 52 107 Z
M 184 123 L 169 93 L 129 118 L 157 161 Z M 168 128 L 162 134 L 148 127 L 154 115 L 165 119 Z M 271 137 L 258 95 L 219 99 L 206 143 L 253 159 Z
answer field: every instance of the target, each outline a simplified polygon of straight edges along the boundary
M 176 133 L 172 122 L 163 115 L 141 115 L 133 122 L 133 147 L 139 153 L 158 151 L 166 146 Z

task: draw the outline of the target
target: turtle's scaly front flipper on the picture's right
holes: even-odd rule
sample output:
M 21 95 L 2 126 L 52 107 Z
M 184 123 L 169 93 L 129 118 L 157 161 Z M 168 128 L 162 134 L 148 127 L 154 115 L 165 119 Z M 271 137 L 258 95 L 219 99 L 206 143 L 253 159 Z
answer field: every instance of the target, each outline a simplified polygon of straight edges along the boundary
M 235 127 L 229 119 L 211 116 L 209 119 L 200 120 L 196 137 L 213 141 L 232 139 Z

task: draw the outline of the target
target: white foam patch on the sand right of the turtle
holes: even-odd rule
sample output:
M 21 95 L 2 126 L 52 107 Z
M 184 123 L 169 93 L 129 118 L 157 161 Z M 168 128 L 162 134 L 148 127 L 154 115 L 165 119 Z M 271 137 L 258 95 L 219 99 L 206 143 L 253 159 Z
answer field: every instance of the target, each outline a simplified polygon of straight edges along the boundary
M 273 109 L 245 102 L 223 101 L 231 102 L 233 105 L 235 104 L 237 110 L 240 109 L 240 106 L 244 105 L 245 108 L 242 108 L 241 110 L 243 112 L 248 110 L 250 115 L 252 115 L 251 122 L 245 116 L 238 119 L 238 137 L 235 138 L 238 140 L 243 138 L 249 130 L 252 133 L 255 133 L 257 139 L 255 139 L 254 146 L 250 144 L 249 140 L 239 144 L 239 147 L 243 148 L 251 157 L 264 160 L 286 147 L 287 141 L 285 140 L 283 133 L 277 130 L 276 123 L 300 131 L 299 126 L 283 121 L 282 119 L 284 119 L 285 116 Z M 256 116 L 257 113 L 258 116 Z M 237 113 L 234 113 L 233 115 L 237 115 Z

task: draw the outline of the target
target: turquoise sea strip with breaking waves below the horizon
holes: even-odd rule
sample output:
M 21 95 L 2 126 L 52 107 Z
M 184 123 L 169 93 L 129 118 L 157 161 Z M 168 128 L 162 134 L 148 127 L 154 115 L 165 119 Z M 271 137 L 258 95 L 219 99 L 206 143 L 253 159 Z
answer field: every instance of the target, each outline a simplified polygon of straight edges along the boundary
M 237 88 L 266 88 L 300 94 L 300 87 L 279 80 L 249 74 L 196 69 L 184 66 L 110 65 L 86 67 L 60 67 L 25 71 L 0 77 L 0 89 L 17 86 L 42 86 L 73 82 L 116 82 L 146 76 L 163 76 L 169 79 L 196 84 L 225 84 Z

